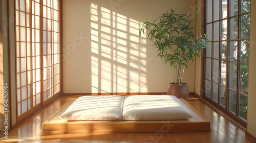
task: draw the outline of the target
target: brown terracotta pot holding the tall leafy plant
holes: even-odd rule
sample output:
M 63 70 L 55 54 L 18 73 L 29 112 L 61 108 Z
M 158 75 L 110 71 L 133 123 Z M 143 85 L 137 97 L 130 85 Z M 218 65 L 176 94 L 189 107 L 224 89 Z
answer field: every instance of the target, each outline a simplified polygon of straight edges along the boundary
M 187 84 L 183 83 L 182 85 L 176 85 L 175 83 L 170 83 L 167 89 L 167 94 L 187 100 L 189 97 Z

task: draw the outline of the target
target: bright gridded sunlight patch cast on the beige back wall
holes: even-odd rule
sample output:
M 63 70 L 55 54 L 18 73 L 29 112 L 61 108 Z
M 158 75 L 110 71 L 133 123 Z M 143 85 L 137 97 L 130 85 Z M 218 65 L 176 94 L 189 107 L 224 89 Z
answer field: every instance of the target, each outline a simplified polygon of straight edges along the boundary
M 147 92 L 140 22 L 91 3 L 92 93 Z

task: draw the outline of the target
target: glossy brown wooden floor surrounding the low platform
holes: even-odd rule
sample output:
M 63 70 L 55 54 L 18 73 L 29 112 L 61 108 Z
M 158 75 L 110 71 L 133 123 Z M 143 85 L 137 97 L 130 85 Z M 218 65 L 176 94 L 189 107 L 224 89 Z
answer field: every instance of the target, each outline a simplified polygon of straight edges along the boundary
M 243 130 L 193 96 L 189 97 L 188 102 L 211 122 L 210 132 L 43 134 L 41 124 L 69 99 L 58 98 L 9 131 L 8 139 L 1 137 L 0 142 L 253 142 L 245 137 Z

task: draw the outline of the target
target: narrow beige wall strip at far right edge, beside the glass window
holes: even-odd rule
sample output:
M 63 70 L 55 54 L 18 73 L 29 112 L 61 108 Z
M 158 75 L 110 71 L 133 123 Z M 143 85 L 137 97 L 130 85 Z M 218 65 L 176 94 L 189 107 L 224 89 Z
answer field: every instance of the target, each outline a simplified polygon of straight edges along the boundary
M 256 137 L 256 2 L 251 1 L 251 29 L 249 55 L 248 118 L 247 131 Z

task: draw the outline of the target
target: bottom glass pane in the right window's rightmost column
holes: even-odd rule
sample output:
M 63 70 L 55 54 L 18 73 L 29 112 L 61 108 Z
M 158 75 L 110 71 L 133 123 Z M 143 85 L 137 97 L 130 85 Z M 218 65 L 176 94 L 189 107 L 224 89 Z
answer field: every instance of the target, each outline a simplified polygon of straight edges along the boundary
M 248 98 L 239 94 L 239 116 L 247 120 L 247 101 Z

